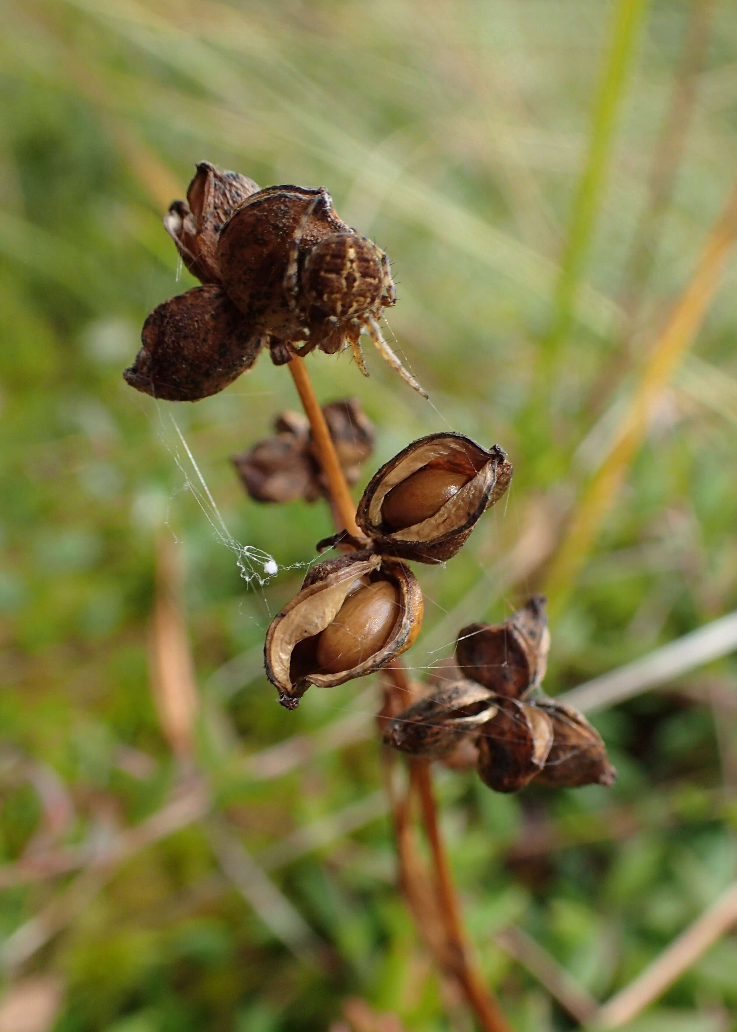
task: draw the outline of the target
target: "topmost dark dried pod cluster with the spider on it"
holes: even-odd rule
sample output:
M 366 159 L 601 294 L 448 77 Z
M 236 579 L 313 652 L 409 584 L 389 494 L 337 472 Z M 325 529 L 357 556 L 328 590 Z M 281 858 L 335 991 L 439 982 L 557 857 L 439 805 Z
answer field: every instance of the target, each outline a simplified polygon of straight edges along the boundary
M 395 301 L 387 256 L 343 222 L 324 187 L 259 190 L 237 172 L 201 162 L 187 200 L 173 201 L 164 226 L 192 275 L 219 288 L 218 303 L 215 293 L 192 298 L 188 291 L 160 304 L 125 373 L 131 386 L 194 401 L 249 369 L 262 346 L 277 364 L 316 348 L 334 354 L 350 346 L 365 373 L 358 343 L 365 330 L 424 394 L 379 327 Z

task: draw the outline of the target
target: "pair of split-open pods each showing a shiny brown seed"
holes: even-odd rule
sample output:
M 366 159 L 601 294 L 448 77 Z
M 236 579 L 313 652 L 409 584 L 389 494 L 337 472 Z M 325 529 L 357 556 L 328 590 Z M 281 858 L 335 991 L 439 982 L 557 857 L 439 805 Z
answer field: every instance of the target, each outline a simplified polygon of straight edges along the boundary
M 362 677 L 409 648 L 420 630 L 422 594 L 400 559 L 440 562 L 454 555 L 511 473 L 498 446 L 486 450 L 460 433 L 432 433 L 375 474 L 356 515 L 363 537 L 344 531 L 318 545 L 353 554 L 314 567 L 268 630 L 266 675 L 283 705 L 296 706 L 310 684 Z

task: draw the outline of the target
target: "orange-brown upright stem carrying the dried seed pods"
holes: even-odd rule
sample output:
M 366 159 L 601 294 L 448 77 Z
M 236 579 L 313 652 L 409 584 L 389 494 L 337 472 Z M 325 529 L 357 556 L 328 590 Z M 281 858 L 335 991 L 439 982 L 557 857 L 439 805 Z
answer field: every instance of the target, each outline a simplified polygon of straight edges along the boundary
M 305 415 L 310 420 L 318 459 L 327 480 L 333 516 L 337 522 L 342 523 L 342 527 L 339 527 L 339 529 L 346 529 L 349 534 L 360 537 L 360 530 L 355 521 L 353 499 L 348 490 L 348 484 L 341 469 L 341 463 L 338 460 L 335 448 L 325 423 L 325 417 L 315 395 L 303 360 L 299 357 L 293 358 L 289 362 L 289 372 L 292 374 L 294 385 L 305 409 Z M 390 682 L 387 690 L 400 694 L 403 702 L 400 708 L 404 708 L 410 701 L 411 683 L 400 662 L 394 659 L 392 664 L 385 668 L 384 674 Z M 448 973 L 456 978 L 483 1032 L 510 1032 L 509 1026 L 502 1015 L 493 995 L 484 986 L 481 976 L 473 967 L 469 957 L 460 917 L 460 907 L 455 895 L 450 864 L 443 846 L 440 826 L 438 824 L 436 801 L 432 795 L 431 774 L 427 764 L 411 762 L 411 785 L 417 791 L 422 804 L 422 818 L 436 869 L 437 905 L 442 915 L 443 929 L 447 940 L 447 948 L 443 949 L 438 944 L 434 953 L 436 953 L 436 956 L 443 955 L 443 957 L 447 957 L 447 962 L 443 966 L 449 968 Z M 402 805 L 397 804 L 393 806 L 392 809 L 396 811 L 394 812 L 394 818 L 397 829 L 399 869 L 403 881 L 407 882 L 406 888 L 411 889 L 413 879 L 410 877 L 410 874 L 414 864 L 408 864 L 407 861 L 409 858 L 405 854 L 409 832 L 408 803 L 409 800 L 405 801 Z M 402 811 L 400 813 L 398 812 L 399 810 Z M 414 902 L 415 905 L 411 906 L 413 912 L 417 909 L 417 900 Z M 422 932 L 422 929 L 420 931 Z

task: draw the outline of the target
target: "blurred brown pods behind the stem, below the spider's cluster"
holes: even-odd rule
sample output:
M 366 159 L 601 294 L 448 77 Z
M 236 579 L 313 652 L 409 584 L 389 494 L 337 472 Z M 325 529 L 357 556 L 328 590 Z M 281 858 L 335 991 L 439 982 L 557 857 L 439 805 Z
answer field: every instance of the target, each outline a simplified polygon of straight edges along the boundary
M 374 448 L 374 427 L 357 398 L 323 407 L 325 422 L 349 484 L 360 476 L 361 463 Z M 283 412 L 274 422 L 275 434 L 233 456 L 244 487 L 255 502 L 314 502 L 327 494 L 327 484 L 310 434 L 310 423 L 296 412 Z

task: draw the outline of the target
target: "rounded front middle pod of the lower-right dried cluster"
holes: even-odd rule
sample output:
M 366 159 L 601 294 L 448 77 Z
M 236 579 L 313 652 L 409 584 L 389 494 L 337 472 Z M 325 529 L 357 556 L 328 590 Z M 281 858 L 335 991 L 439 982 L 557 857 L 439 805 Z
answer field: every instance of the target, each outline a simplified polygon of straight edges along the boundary
M 501 696 L 494 701 L 499 711 L 477 739 L 478 771 L 494 792 L 519 792 L 545 765 L 552 723 L 535 706 Z

